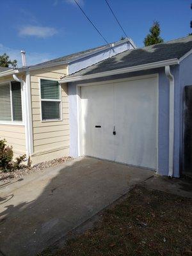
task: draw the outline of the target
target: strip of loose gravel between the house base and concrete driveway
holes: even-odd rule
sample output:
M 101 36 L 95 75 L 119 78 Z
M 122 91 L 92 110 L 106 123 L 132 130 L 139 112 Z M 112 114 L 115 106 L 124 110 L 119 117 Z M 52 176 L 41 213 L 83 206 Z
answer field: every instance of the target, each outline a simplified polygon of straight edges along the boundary
M 28 175 L 30 173 L 44 172 L 46 168 L 60 165 L 62 163 L 71 161 L 72 159 L 73 159 L 72 157 L 61 157 L 61 158 L 53 159 L 51 161 L 35 164 L 33 167 L 22 166 L 21 169 L 15 170 L 14 172 L 4 173 L 0 171 L 0 182 L 7 182 L 13 178 L 17 179 L 25 175 Z

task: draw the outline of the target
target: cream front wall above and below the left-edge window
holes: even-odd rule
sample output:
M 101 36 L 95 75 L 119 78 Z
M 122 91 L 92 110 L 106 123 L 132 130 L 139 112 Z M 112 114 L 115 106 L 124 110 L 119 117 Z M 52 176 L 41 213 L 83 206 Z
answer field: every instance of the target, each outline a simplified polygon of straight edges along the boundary
M 22 74 L 18 76 L 22 77 Z M 0 77 L 0 86 L 3 83 L 9 83 L 14 81 L 12 76 Z M 14 125 L 13 122 L 10 124 L 0 124 L 0 138 L 5 139 L 9 146 L 13 147 L 14 157 L 26 154 L 26 136 L 24 124 Z

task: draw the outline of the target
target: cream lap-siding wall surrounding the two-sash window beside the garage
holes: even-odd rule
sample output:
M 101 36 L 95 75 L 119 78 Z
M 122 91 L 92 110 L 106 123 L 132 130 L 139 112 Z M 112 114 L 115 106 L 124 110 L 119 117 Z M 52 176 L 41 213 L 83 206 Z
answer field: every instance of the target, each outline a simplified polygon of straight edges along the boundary
M 61 85 L 62 120 L 41 120 L 40 78 L 60 79 L 67 74 L 67 66 L 44 68 L 30 72 L 33 125 L 32 164 L 69 154 L 69 122 L 67 84 Z

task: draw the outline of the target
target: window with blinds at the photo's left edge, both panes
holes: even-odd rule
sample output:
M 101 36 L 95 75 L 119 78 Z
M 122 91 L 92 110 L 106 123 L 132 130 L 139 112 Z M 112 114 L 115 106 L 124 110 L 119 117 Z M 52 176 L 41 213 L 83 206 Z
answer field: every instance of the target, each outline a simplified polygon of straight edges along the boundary
M 0 84 L 0 121 L 22 121 L 22 97 L 19 82 Z

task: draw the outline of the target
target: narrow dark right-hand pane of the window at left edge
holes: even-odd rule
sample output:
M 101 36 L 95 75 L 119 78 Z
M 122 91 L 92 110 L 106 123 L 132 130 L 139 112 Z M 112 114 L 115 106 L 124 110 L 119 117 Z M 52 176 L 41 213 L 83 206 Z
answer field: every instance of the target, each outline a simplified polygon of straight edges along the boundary
M 22 102 L 19 82 L 12 82 L 12 109 L 13 121 L 22 121 Z

